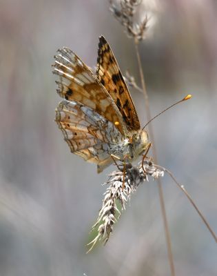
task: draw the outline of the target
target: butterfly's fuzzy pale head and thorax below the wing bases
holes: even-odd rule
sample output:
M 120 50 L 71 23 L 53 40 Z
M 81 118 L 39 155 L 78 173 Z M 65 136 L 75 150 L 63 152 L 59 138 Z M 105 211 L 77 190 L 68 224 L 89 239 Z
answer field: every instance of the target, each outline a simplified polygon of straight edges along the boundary
M 120 143 L 110 148 L 110 154 L 121 161 L 135 161 L 147 148 L 148 138 L 145 130 L 129 132 Z

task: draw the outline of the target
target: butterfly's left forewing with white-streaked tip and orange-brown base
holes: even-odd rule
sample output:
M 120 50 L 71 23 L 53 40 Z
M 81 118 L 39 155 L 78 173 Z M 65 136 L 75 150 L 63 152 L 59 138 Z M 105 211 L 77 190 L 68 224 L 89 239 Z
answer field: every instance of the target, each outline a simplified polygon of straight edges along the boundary
M 92 108 L 115 124 L 125 136 L 127 130 L 121 113 L 90 68 L 69 48 L 59 49 L 54 59 L 53 72 L 59 76 L 59 81 L 56 81 L 59 95 L 69 101 L 79 101 Z

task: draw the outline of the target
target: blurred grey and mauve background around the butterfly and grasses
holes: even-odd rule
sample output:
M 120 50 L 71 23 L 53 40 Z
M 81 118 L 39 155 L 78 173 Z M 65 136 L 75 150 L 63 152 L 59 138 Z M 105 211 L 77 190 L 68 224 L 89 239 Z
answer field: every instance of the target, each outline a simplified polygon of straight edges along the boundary
M 152 115 L 194 97 L 153 121 L 158 163 L 171 170 L 217 233 L 216 0 L 145 1 L 152 15 L 139 44 Z M 170 275 L 156 181 L 145 182 L 106 246 L 86 255 L 114 167 L 72 155 L 54 122 L 51 64 L 68 46 L 96 66 L 98 37 L 110 42 L 123 73 L 141 86 L 134 43 L 108 1 L 0 2 L 0 275 Z M 151 21 L 150 21 L 151 22 Z M 143 95 L 131 89 L 141 125 Z M 176 275 L 217 275 L 217 247 L 183 193 L 165 175 L 165 208 Z

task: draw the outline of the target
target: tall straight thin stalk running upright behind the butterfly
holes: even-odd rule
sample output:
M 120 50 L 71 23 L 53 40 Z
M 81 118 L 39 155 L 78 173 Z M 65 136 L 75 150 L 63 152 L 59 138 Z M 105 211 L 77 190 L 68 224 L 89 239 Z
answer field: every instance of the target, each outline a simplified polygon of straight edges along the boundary
M 139 74 L 141 77 L 141 83 L 142 83 L 142 88 L 143 88 L 143 95 L 145 97 L 145 112 L 147 115 L 147 121 L 149 121 L 151 119 L 151 112 L 150 112 L 150 108 L 149 108 L 149 99 L 148 99 L 147 90 L 146 90 L 146 86 L 145 86 L 145 78 L 144 78 L 144 74 L 143 74 L 143 67 L 141 64 L 141 57 L 140 57 L 140 54 L 138 51 L 138 40 L 136 38 L 134 39 L 134 44 L 135 44 L 135 49 L 136 49 L 136 57 L 137 57 L 137 61 L 138 61 L 138 70 L 139 70 Z M 149 135 L 152 139 L 152 145 L 153 145 L 152 150 L 153 150 L 154 161 L 156 162 L 156 164 L 158 164 L 156 147 L 155 147 L 155 143 L 154 143 L 154 132 L 152 130 L 152 124 L 149 124 L 148 130 L 149 130 Z M 161 212 L 162 212 L 162 216 L 163 216 L 163 225 L 164 225 L 164 230 L 165 230 L 165 239 L 166 239 L 166 244 L 167 244 L 169 268 L 170 268 L 171 275 L 175 276 L 176 274 L 175 274 L 175 268 L 174 268 L 174 258 L 173 258 L 173 254 L 172 254 L 172 243 L 171 243 L 171 238 L 170 238 L 170 234 L 169 234 L 169 226 L 167 223 L 167 215 L 166 215 L 166 210 L 165 210 L 165 203 L 164 203 L 164 198 L 163 198 L 163 189 L 162 189 L 161 179 L 157 179 L 157 182 L 158 182 L 158 194 L 159 194 L 160 204 L 161 204 Z

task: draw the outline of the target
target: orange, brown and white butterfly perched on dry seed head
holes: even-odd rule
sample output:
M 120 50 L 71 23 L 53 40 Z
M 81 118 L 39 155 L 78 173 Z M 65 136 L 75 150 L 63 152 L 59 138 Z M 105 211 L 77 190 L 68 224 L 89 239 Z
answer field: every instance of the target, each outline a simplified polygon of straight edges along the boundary
M 114 162 L 136 160 L 149 143 L 141 129 L 112 49 L 99 38 L 96 73 L 69 48 L 54 56 L 57 92 L 63 98 L 56 108 L 56 123 L 71 152 L 97 164 L 102 172 Z

